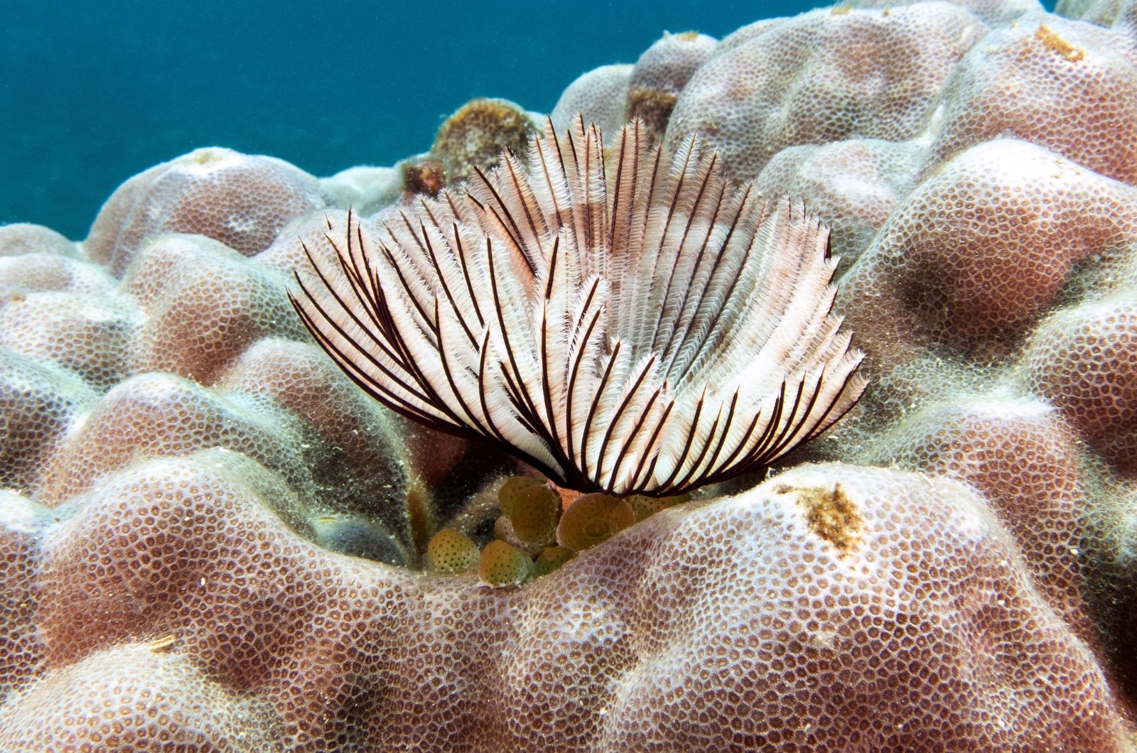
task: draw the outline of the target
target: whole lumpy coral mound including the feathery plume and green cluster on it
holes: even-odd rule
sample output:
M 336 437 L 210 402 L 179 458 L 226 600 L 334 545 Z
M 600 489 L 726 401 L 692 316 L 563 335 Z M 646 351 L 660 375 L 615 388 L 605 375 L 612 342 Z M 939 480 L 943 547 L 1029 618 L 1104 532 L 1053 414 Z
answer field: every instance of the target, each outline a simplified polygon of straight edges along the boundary
M 0 227 L 0 750 L 1134 751 L 1137 10 L 871 5 Z

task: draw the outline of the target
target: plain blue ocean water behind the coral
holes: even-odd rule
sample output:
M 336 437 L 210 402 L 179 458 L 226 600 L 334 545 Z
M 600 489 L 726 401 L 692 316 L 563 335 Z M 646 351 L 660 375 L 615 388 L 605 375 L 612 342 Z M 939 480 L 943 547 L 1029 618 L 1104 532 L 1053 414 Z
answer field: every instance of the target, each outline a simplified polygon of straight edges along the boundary
M 317 175 L 426 150 L 473 97 L 553 108 L 664 31 L 716 38 L 814 3 L 8 0 L 0 223 L 86 235 L 125 179 L 197 147 Z

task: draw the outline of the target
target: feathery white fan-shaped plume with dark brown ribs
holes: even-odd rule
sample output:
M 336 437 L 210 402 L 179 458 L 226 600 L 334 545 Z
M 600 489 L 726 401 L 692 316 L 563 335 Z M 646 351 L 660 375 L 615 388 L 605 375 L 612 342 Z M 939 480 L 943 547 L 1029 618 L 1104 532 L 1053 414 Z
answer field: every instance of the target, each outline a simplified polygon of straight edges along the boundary
M 297 311 L 376 399 L 574 489 L 679 494 L 824 431 L 864 389 L 828 230 L 695 139 L 669 155 L 634 122 L 601 144 L 548 124 L 528 164 L 329 223 L 339 266 L 298 275 Z

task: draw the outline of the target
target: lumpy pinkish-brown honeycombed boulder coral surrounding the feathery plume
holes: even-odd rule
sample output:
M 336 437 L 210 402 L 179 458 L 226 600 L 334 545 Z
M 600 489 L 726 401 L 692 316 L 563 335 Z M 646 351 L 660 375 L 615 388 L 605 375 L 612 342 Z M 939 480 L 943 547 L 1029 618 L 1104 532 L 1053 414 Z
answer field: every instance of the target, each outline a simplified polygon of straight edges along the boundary
M 1137 8 L 877 5 L 565 90 L 812 207 L 871 383 L 520 586 L 424 555 L 529 471 L 288 305 L 391 172 L 198 150 L 0 227 L 0 750 L 1135 750 Z

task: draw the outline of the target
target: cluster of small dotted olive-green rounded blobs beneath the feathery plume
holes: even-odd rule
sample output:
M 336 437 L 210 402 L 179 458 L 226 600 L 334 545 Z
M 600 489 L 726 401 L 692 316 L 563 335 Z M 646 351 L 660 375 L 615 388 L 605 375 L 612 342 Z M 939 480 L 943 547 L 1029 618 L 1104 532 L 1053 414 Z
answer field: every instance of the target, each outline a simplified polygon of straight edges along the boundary
M 586 494 L 562 510 L 561 495 L 549 485 L 530 477 L 511 477 L 498 490 L 501 514 L 493 524 L 493 540 L 479 551 L 465 533 L 443 528 L 426 546 L 426 569 L 435 574 L 458 574 L 478 568 L 478 578 L 487 586 L 520 586 L 689 498 Z

